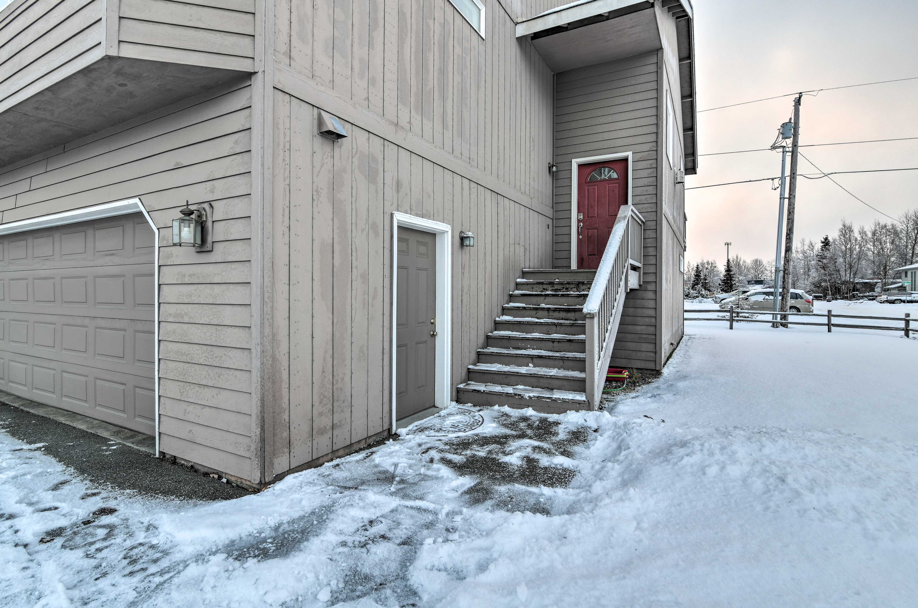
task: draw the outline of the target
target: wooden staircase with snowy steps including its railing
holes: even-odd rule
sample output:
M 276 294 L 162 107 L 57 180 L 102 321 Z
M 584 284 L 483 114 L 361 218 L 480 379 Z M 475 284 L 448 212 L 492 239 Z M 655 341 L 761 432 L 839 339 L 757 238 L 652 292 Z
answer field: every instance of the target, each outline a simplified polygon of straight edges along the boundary
M 596 410 L 625 294 L 644 281 L 644 217 L 622 205 L 597 271 L 522 271 L 459 403 Z

